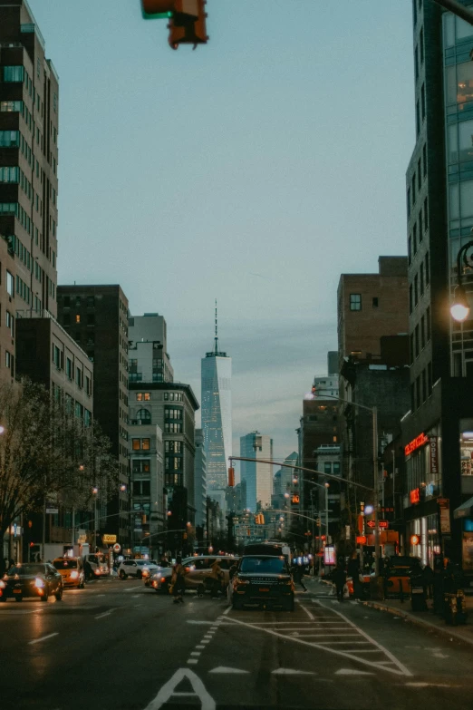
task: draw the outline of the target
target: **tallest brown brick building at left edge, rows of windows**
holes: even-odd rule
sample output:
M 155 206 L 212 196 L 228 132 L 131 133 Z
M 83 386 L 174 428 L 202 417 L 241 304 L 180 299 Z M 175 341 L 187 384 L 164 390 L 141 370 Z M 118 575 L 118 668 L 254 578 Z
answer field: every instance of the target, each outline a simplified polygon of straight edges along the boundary
M 25 0 L 0 0 L 0 379 L 14 318 L 56 316 L 59 83 Z

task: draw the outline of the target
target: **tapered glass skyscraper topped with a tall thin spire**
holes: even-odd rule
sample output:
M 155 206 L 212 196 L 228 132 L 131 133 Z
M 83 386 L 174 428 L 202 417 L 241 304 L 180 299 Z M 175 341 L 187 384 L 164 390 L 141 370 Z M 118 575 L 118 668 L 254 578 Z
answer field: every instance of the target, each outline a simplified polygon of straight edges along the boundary
M 215 346 L 202 358 L 202 429 L 207 457 L 208 496 L 226 510 L 228 457 L 232 453 L 232 359 L 218 350 L 217 301 Z

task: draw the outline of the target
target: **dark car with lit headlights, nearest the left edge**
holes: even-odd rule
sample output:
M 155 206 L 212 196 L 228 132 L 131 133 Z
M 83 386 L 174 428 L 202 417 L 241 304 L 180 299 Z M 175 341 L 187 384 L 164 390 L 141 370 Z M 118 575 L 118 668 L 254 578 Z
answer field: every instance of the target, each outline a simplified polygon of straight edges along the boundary
M 50 595 L 61 601 L 63 598 L 63 578 L 49 562 L 32 562 L 12 567 L 0 579 L 0 601 L 14 598 L 22 601 L 25 597 L 39 597 L 47 601 Z

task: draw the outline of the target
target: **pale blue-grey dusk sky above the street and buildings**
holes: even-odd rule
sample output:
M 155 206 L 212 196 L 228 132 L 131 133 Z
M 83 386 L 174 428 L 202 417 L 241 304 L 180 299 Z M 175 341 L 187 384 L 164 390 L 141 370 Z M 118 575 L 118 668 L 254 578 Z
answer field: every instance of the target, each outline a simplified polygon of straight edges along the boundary
M 60 77 L 58 283 L 165 316 L 198 400 L 217 298 L 233 453 L 257 429 L 283 459 L 340 274 L 406 254 L 410 0 L 208 0 L 176 52 L 140 0 L 29 4 Z

